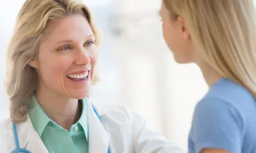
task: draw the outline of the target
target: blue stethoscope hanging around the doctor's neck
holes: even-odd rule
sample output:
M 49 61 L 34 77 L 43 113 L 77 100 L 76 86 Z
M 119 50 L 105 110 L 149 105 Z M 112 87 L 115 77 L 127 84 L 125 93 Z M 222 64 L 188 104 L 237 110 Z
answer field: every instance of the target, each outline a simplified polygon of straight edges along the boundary
M 92 106 L 94 109 L 94 113 L 96 114 L 96 116 L 98 117 L 98 119 L 100 120 L 100 116 L 97 112 L 97 110 L 95 109 L 94 106 Z M 17 133 L 17 128 L 16 128 L 16 124 L 13 122 L 12 123 L 12 129 L 14 131 L 14 139 L 15 139 L 15 144 L 16 144 L 16 150 L 13 150 L 11 153 L 31 153 L 29 152 L 29 150 L 25 150 L 23 148 L 20 148 L 20 143 L 18 141 L 18 133 Z M 111 153 L 110 149 L 108 149 L 107 153 Z

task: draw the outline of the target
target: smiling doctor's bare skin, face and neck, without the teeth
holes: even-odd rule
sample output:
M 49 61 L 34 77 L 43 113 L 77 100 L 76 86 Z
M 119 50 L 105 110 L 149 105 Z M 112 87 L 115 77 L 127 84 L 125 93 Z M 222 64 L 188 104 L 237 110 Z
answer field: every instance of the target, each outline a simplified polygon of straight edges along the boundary
M 89 95 L 94 79 L 98 61 L 94 33 L 81 15 L 51 22 L 46 31 L 38 58 L 29 63 L 39 75 L 35 96 L 46 115 L 69 131 L 81 116 L 78 99 Z M 67 77 L 87 70 L 87 81 L 75 82 Z

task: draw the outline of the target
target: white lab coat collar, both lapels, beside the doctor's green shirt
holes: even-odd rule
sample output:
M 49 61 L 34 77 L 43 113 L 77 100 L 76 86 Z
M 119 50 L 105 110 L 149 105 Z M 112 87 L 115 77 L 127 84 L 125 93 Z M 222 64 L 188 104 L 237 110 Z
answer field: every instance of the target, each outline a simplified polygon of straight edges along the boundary
M 104 126 L 101 124 L 98 116 L 94 112 L 91 103 L 89 103 L 88 99 L 85 100 L 89 129 L 89 152 L 107 153 L 109 148 L 109 136 L 106 133 Z M 16 128 L 20 148 L 25 148 L 30 152 L 48 153 L 40 136 L 38 133 L 36 133 L 35 129 L 33 129 L 29 116 L 25 122 L 16 124 Z M 12 122 L 9 124 L 9 135 L 12 146 L 10 152 L 12 152 L 13 150 L 16 150 Z

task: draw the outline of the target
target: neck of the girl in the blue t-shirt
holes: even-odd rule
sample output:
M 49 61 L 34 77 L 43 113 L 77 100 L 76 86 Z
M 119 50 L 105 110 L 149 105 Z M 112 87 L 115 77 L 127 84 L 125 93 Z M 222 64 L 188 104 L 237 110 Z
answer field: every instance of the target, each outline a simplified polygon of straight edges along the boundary
M 199 68 L 201 69 L 203 73 L 203 78 L 205 79 L 205 82 L 208 84 L 209 87 L 211 87 L 215 82 L 223 78 L 221 75 L 216 73 L 210 65 L 207 63 L 197 63 Z

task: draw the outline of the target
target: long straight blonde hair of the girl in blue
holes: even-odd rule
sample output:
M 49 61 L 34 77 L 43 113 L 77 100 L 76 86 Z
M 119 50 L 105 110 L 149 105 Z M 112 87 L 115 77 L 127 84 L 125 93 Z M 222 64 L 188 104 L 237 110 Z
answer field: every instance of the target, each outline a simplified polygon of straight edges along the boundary
M 255 0 L 163 0 L 171 20 L 182 16 L 191 41 L 219 75 L 256 97 Z

